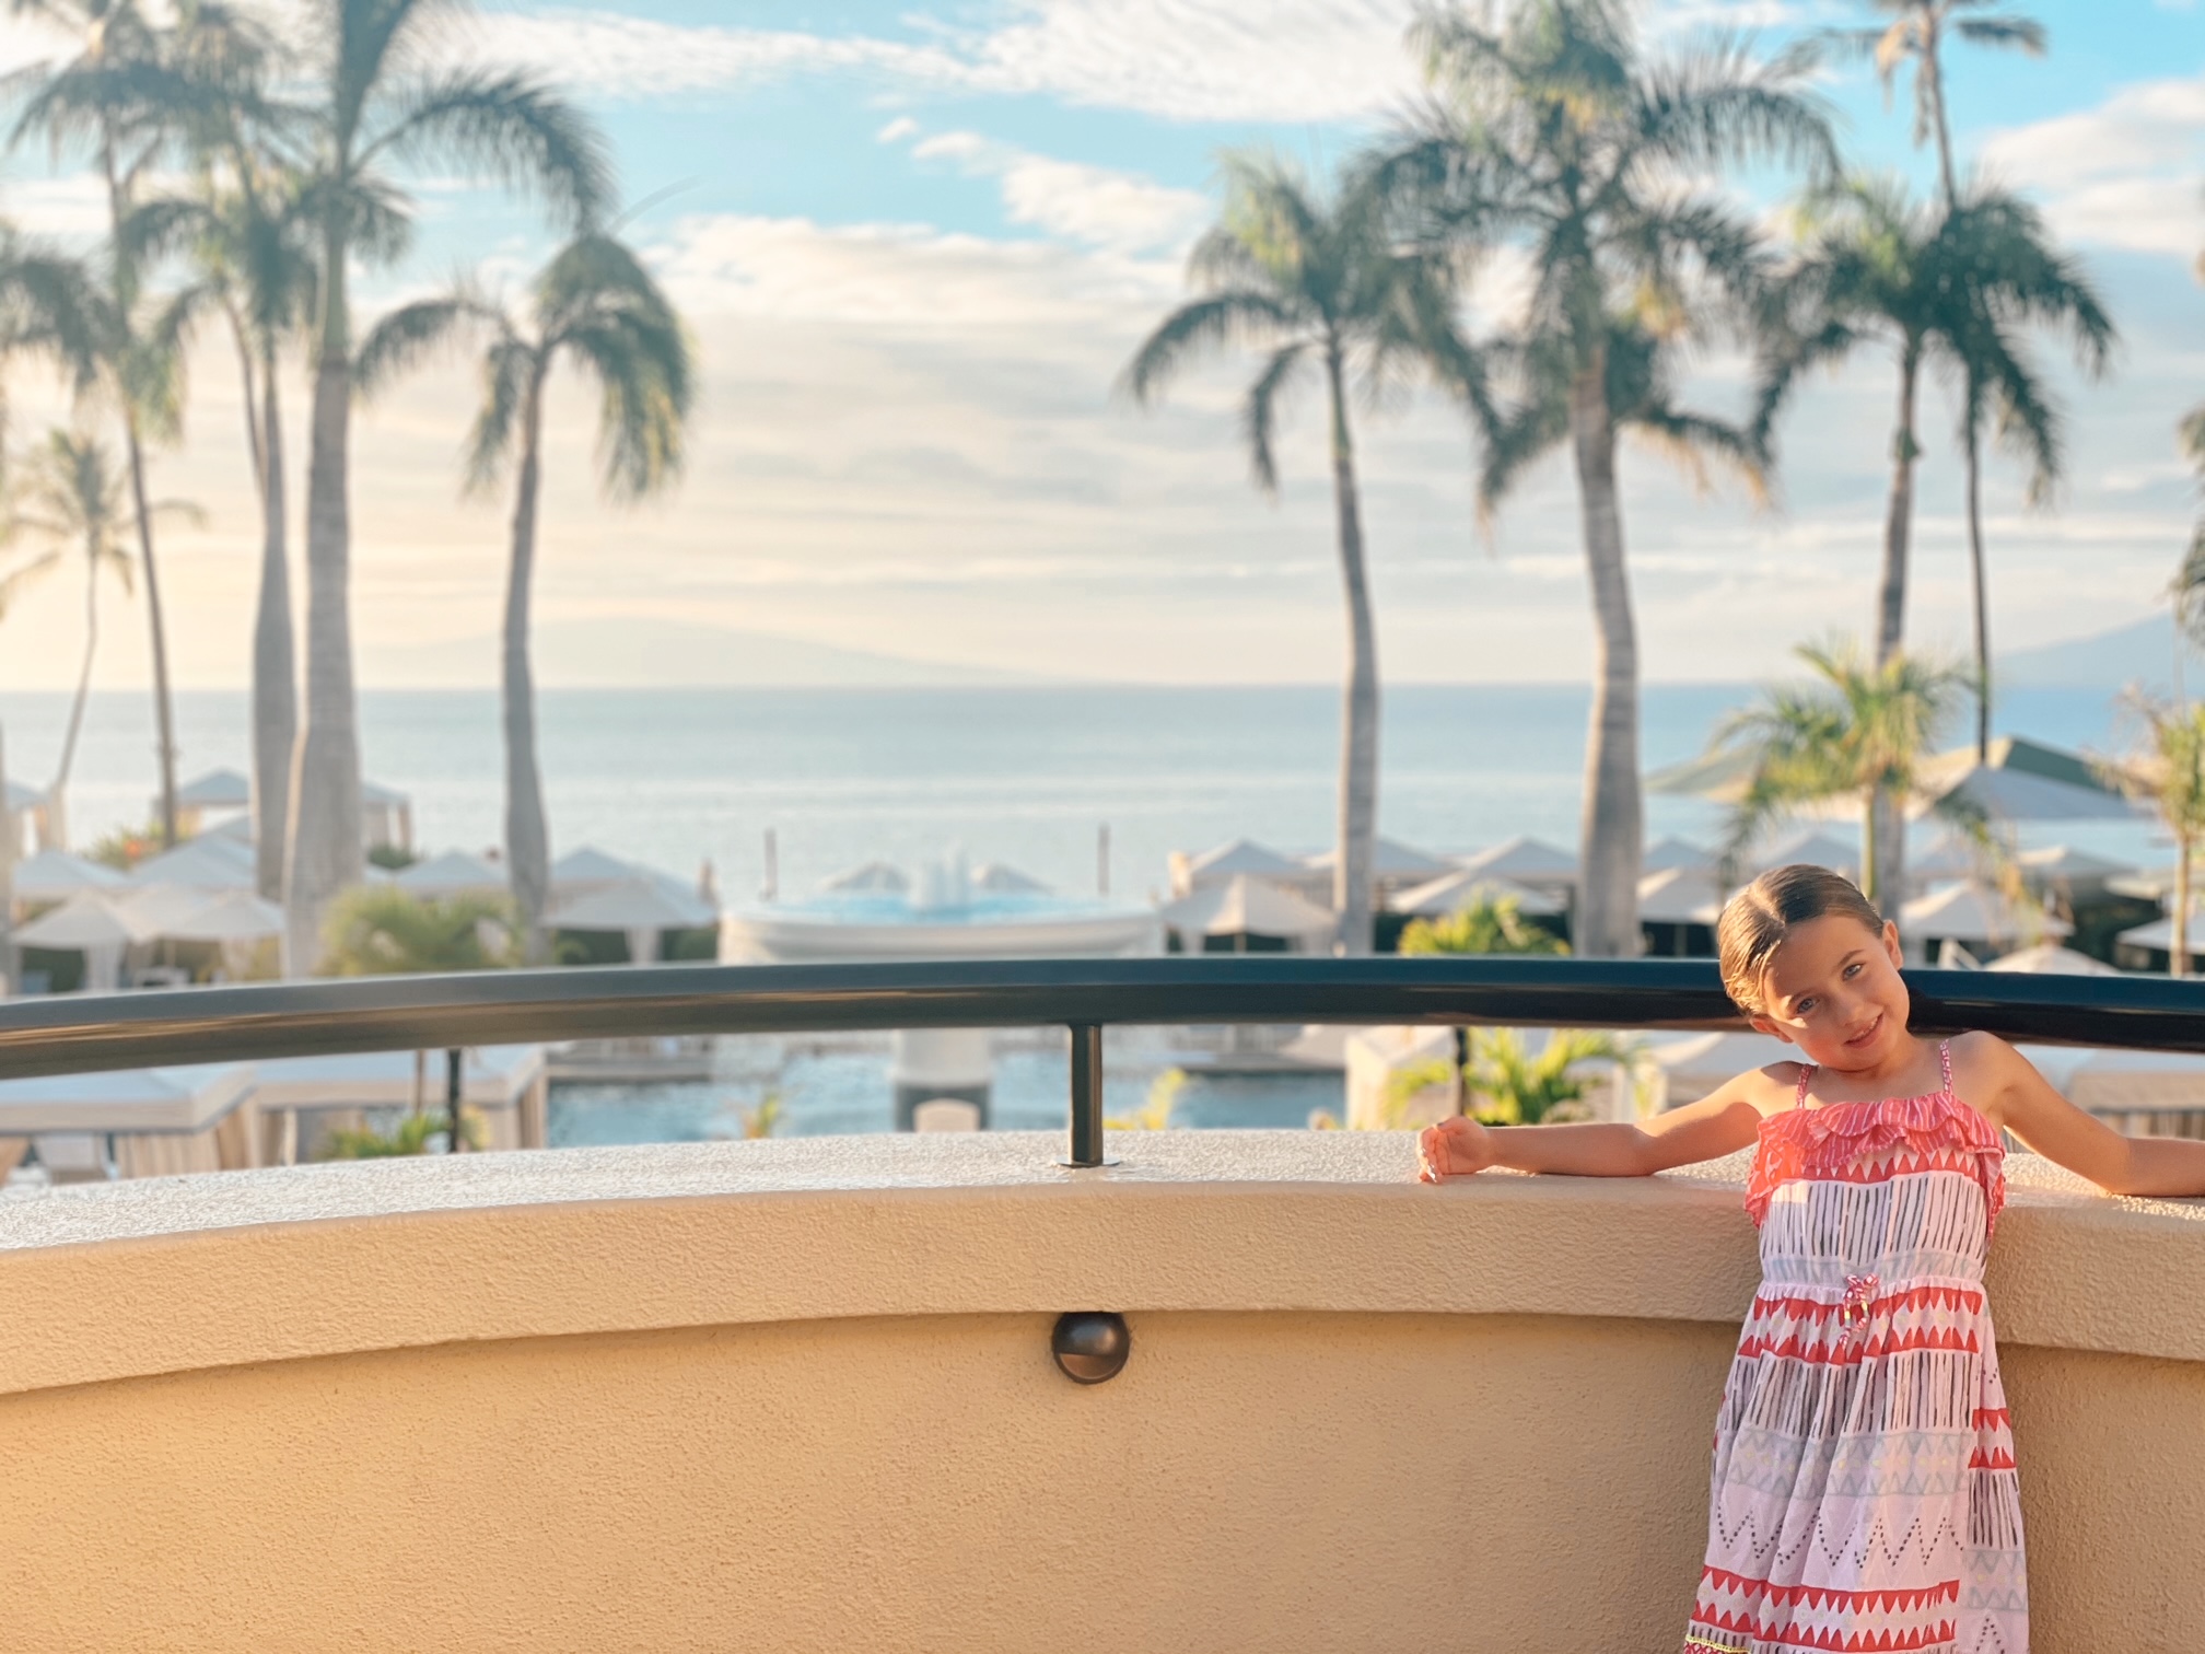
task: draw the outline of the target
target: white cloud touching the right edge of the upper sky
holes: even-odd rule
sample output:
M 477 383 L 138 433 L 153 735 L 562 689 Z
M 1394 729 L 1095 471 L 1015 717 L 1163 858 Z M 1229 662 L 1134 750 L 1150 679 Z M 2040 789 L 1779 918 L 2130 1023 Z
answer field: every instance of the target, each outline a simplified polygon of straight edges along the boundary
M 2070 240 L 2154 254 L 2205 243 L 2205 75 L 2134 82 L 2097 108 L 1991 132 L 1982 159 L 2040 192 Z

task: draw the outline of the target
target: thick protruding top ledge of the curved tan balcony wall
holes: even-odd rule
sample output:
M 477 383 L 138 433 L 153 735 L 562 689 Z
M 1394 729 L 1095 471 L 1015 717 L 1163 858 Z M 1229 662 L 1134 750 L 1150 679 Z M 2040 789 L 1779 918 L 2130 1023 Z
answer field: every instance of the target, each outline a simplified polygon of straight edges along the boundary
M 0 1394 L 441 1343 L 849 1317 L 1568 1314 L 1735 1323 L 1744 1164 L 1411 1182 L 1405 1134 L 1041 1134 L 485 1153 L 0 1202 Z M 2009 1343 L 2205 1361 L 2205 1202 L 2015 1158 Z

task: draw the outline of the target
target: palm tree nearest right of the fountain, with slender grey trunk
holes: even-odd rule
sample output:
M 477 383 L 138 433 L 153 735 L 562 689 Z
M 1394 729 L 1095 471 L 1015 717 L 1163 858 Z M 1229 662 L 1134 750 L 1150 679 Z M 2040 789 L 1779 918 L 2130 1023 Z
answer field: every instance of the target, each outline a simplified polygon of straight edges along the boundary
M 1394 243 L 1389 203 L 1374 172 L 1356 172 L 1338 190 L 1319 192 L 1279 161 L 1235 154 L 1226 157 L 1224 176 L 1224 214 L 1188 258 L 1188 278 L 1202 296 L 1158 322 L 1127 364 L 1122 384 L 1147 406 L 1211 351 L 1230 344 L 1263 351 L 1263 368 L 1241 404 L 1241 432 L 1257 487 L 1277 494 L 1279 410 L 1312 370 L 1323 375 L 1347 598 L 1332 906 L 1341 950 L 1363 955 L 1372 950 L 1372 845 L 1378 834 L 1378 633 L 1349 386 L 1358 377 L 1383 382 L 1411 348 L 1460 368 L 1460 344 L 1446 320 L 1451 254 Z

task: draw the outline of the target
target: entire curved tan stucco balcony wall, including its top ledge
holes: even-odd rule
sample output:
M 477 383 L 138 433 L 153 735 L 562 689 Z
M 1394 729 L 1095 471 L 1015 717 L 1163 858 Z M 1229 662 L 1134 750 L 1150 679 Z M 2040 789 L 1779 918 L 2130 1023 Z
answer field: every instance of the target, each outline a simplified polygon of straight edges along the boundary
M 1676 1647 L 1735 1167 L 845 1138 L 0 1202 L 0 1619 L 60 1650 Z M 1724 1175 L 1729 1173 L 1729 1175 Z M 2013 1162 L 2040 1650 L 2205 1625 L 2205 1209 Z M 1058 1310 L 1125 1310 L 1091 1389 Z

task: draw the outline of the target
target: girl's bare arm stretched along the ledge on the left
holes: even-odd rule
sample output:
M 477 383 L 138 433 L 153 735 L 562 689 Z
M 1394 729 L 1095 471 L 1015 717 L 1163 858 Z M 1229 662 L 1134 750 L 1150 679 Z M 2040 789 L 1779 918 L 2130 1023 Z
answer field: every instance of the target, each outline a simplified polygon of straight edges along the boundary
M 1559 1171 L 1570 1178 L 1647 1178 L 1693 1160 L 1715 1160 L 1753 1142 L 1762 1111 L 1740 1074 L 1713 1096 L 1656 1114 L 1643 1125 L 1480 1125 L 1458 1114 L 1418 1136 L 1418 1178 L 1446 1182 L 1486 1167 Z M 2201 1145 L 2205 1147 L 2205 1145 Z

